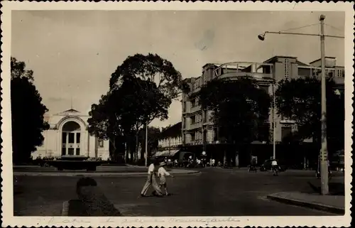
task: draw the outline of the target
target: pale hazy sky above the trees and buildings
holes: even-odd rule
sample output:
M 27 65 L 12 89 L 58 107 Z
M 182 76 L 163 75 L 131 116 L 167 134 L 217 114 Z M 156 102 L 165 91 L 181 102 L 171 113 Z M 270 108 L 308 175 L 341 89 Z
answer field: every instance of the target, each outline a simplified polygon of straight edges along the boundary
M 170 60 L 183 78 L 199 77 L 206 63 L 260 63 L 274 55 L 310 63 L 320 58 L 317 37 L 257 36 L 289 29 L 319 33 L 321 13 L 325 33 L 344 36 L 345 14 L 337 11 L 12 11 L 11 56 L 33 70 L 48 114 L 71 106 L 88 113 L 107 93 L 111 73 L 136 53 Z M 326 38 L 325 51 L 344 66 L 344 40 Z M 177 100 L 169 119 L 151 126 L 179 121 Z

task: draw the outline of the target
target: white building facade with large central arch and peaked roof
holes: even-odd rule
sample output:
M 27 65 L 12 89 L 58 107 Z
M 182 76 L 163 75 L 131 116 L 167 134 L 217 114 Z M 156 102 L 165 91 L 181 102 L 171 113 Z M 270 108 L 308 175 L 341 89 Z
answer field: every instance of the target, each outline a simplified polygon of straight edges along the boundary
M 88 115 L 75 109 L 45 116 L 50 129 L 43 131 L 43 143 L 32 153 L 32 158 L 84 156 L 89 158 L 109 158 L 109 141 L 90 136 L 87 131 Z

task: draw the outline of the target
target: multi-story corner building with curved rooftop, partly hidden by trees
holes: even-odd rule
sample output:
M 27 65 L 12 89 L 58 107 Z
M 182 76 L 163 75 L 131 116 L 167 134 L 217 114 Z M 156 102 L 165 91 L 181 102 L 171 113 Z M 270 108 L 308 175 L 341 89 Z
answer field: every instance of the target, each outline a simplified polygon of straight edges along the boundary
M 275 56 L 263 63 L 208 63 L 202 67 L 200 77 L 190 77 L 186 81 L 190 85 L 190 92 L 182 94 L 182 144 L 202 145 L 202 143 L 218 143 L 217 128 L 211 121 L 210 110 L 202 110 L 199 102 L 199 92 L 202 85 L 214 78 L 237 79 L 238 77 L 253 77 L 258 85 L 273 95 L 273 82 L 285 78 L 320 77 L 320 60 L 305 64 L 294 57 Z M 337 83 L 339 92 L 344 91 L 344 67 L 336 65 L 336 59 L 326 57 L 326 72 Z M 294 121 L 275 115 L 273 110 L 265 124 L 268 131 L 268 141 L 273 139 L 273 120 L 275 119 L 275 141 L 279 143 L 283 137 L 297 130 Z M 277 113 L 277 112 L 275 112 Z M 264 128 L 265 129 L 265 128 Z M 271 140 L 270 140 L 271 139 Z M 264 141 L 265 139 L 261 139 Z

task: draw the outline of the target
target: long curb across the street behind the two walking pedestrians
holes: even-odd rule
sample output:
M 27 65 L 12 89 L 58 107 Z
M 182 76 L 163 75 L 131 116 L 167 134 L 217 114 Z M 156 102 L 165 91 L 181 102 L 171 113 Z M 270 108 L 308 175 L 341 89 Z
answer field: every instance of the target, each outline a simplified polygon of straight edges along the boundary
M 189 175 L 201 173 L 198 170 L 191 170 L 185 173 L 173 173 L 173 175 Z M 40 172 L 13 172 L 15 176 L 67 176 L 67 177 L 82 177 L 82 176 L 96 176 L 96 177 L 114 177 L 114 176 L 129 176 L 129 177 L 145 177 L 147 173 L 40 173 Z

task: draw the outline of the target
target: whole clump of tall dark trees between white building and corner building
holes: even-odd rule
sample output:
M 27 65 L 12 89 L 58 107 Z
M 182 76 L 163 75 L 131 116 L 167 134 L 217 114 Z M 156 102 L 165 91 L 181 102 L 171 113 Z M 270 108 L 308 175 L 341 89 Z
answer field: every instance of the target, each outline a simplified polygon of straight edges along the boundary
M 153 119 L 167 119 L 182 89 L 187 85 L 168 60 L 153 54 L 129 56 L 111 74 L 107 95 L 92 105 L 89 132 L 111 140 L 119 135 L 130 142 L 131 158 L 137 156 L 140 129 Z

